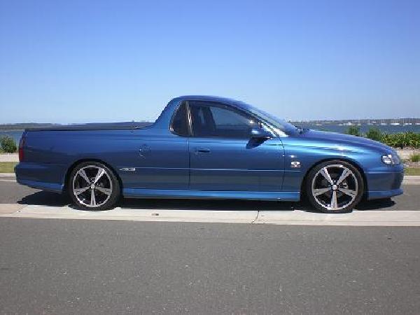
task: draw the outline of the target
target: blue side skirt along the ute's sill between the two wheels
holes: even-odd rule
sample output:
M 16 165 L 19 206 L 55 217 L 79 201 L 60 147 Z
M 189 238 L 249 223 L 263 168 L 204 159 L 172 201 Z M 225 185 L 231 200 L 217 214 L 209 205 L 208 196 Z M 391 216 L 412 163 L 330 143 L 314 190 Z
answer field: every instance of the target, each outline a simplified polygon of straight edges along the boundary
M 185 198 L 185 199 L 243 199 L 243 200 L 300 200 L 298 191 L 215 191 L 215 190 L 166 190 L 123 189 L 123 196 L 130 198 Z

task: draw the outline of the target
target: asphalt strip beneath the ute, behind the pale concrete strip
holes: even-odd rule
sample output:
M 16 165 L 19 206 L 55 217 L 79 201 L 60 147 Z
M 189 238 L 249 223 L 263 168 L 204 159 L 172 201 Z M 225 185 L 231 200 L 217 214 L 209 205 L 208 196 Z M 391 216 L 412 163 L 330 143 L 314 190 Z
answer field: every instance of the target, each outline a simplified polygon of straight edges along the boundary
M 420 185 L 405 185 L 404 195 L 392 200 L 373 200 L 361 203 L 358 210 L 420 210 Z M 48 193 L 28 188 L 15 183 L 12 179 L 0 179 L 0 204 L 36 204 L 43 206 L 64 206 L 69 204 L 69 198 L 57 193 Z M 308 204 L 296 202 L 258 202 L 258 201 L 227 201 L 227 200 L 122 200 L 120 207 L 146 209 L 255 209 L 260 210 L 290 210 L 299 209 L 313 211 Z

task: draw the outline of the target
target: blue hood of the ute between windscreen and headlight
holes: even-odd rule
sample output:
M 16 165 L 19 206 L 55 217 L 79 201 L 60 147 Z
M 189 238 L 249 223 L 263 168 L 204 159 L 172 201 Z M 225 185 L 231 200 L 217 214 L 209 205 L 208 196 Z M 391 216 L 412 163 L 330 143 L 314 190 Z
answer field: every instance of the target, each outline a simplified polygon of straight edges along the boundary
M 309 130 L 300 134 L 302 139 L 307 139 L 317 144 L 317 146 L 325 146 L 325 144 L 335 144 L 339 146 L 349 146 L 351 148 L 370 148 L 383 153 L 394 153 L 395 150 L 386 144 L 363 137 L 355 137 L 349 134 L 339 134 L 337 132 L 322 132 L 318 130 Z

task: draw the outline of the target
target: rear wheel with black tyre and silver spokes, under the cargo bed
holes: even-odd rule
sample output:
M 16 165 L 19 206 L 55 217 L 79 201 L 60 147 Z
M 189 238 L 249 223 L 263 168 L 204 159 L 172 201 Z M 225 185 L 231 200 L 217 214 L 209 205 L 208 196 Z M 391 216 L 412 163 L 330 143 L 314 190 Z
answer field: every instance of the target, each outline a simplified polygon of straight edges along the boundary
M 81 162 L 71 171 L 67 191 L 77 209 L 109 210 L 120 199 L 120 182 L 106 165 L 94 161 Z

